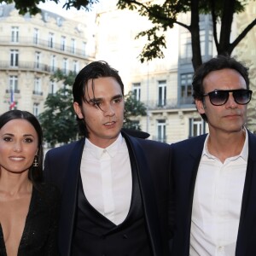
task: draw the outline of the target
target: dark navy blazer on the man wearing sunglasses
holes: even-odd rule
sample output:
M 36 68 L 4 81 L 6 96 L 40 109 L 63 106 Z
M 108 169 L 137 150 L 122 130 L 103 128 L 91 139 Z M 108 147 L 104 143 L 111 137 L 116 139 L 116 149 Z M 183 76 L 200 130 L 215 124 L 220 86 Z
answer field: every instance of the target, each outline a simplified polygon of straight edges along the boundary
M 195 179 L 207 135 L 173 143 L 172 151 L 172 255 L 189 255 L 191 212 Z M 246 180 L 236 241 L 236 256 L 256 255 L 256 137 L 248 132 Z

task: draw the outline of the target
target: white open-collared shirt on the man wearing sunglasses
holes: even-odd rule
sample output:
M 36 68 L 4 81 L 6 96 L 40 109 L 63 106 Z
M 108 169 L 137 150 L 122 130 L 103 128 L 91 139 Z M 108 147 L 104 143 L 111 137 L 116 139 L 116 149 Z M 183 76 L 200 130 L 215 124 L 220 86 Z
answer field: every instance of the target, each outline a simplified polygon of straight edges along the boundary
M 234 256 L 247 170 L 247 131 L 241 154 L 224 163 L 209 154 L 208 137 L 195 182 L 189 255 Z

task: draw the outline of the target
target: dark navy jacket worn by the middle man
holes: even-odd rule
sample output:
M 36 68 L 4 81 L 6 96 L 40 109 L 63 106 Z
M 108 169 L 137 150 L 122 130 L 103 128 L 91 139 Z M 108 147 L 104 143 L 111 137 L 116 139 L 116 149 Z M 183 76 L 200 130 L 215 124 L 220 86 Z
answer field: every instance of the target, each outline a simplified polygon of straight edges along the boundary
M 148 238 L 154 256 L 168 255 L 168 195 L 170 145 L 131 137 L 122 131 L 130 159 L 137 166 Z M 61 190 L 59 247 L 61 256 L 70 255 L 77 190 L 84 138 L 49 150 L 44 161 L 44 177 Z

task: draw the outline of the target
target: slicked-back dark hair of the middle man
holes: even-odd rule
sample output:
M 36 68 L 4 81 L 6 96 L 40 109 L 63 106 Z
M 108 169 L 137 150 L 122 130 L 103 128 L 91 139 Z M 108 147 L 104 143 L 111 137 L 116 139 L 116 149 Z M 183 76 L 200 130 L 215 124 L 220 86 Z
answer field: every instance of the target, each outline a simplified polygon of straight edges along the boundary
M 90 64 L 86 65 L 77 75 L 74 84 L 73 84 L 73 102 L 79 103 L 79 106 L 82 107 L 83 102 L 87 102 L 89 99 L 85 97 L 85 91 L 88 90 L 88 81 L 92 79 L 92 90 L 94 92 L 94 79 L 99 78 L 108 78 L 112 77 L 116 79 L 119 83 L 120 88 L 122 90 L 122 95 L 124 96 L 124 84 L 122 79 L 119 76 L 119 72 L 110 67 L 108 62 L 106 61 L 93 61 Z M 86 114 L 86 113 L 84 113 Z M 89 136 L 89 131 L 87 130 L 86 124 L 84 123 L 84 119 L 79 119 L 77 116 L 77 120 L 79 122 L 79 130 L 85 136 Z

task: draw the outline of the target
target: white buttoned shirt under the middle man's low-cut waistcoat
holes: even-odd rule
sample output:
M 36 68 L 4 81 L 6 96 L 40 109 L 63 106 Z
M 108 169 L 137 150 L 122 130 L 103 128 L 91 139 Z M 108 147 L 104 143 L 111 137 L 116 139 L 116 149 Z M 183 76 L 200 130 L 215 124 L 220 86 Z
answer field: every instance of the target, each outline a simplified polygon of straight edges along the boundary
M 108 148 L 85 139 L 81 161 L 84 195 L 114 224 L 122 223 L 131 205 L 131 163 L 125 139 L 119 135 Z

